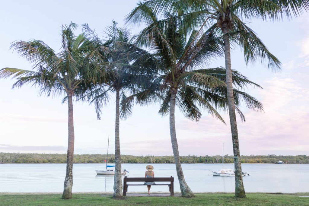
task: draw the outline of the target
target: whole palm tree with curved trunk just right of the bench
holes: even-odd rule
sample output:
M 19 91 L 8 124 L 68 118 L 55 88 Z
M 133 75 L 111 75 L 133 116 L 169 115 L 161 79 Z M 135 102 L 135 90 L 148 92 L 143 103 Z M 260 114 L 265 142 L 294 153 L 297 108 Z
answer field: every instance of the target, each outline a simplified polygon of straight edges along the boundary
M 187 33 L 182 29 L 179 16 L 165 13 L 165 18 L 158 20 L 155 11 L 143 4 L 133 10 L 128 17 L 135 22 L 138 22 L 138 19 L 144 20 L 147 27 L 140 32 L 137 42 L 140 46 L 148 46 L 160 63 L 157 81 L 135 96 L 139 102 L 155 101 L 154 93 L 163 99 L 159 113 L 170 115 L 171 143 L 181 194 L 191 197 L 194 194 L 185 182 L 180 164 L 175 106 L 179 106 L 184 115 L 191 120 L 198 121 L 201 118 L 199 107 L 202 107 L 224 122 L 216 111 L 216 109 L 227 109 L 224 70 L 198 69 L 207 65 L 210 58 L 223 55 L 220 47 L 222 41 L 213 32 L 214 27 L 210 27 L 203 34 L 197 34 L 194 30 L 187 39 Z M 258 86 L 236 71 L 233 71 L 232 75 L 233 84 L 239 88 L 243 88 L 245 84 Z M 233 92 L 236 109 L 242 118 L 243 114 L 238 107 L 241 98 L 245 99 L 249 108 L 262 110 L 261 104 L 250 95 L 236 89 Z

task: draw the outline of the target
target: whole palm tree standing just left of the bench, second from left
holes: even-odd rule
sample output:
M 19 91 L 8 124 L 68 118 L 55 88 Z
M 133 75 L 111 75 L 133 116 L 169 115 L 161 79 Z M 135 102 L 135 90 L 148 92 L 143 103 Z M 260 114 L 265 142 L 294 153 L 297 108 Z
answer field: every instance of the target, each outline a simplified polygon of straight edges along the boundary
M 97 111 L 97 118 L 100 119 L 101 107 L 109 101 L 109 93 L 116 93 L 116 116 L 115 116 L 115 175 L 113 197 L 122 196 L 121 179 L 121 152 L 120 152 L 120 118 L 127 119 L 132 114 L 133 98 L 128 98 L 127 93 L 134 93 L 141 88 L 149 75 L 142 73 L 140 67 L 134 69 L 130 63 L 146 57 L 146 51 L 137 48 L 133 44 L 134 36 L 128 29 L 117 27 L 113 21 L 112 26 L 107 28 L 108 39 L 102 41 L 97 37 L 88 25 L 84 25 L 87 36 L 92 38 L 97 46 L 107 48 L 106 59 L 101 63 L 106 69 L 104 78 L 101 74 L 96 78 L 96 85 L 89 85 L 87 90 L 82 91 L 83 100 L 94 103 Z M 138 71 L 139 70 L 139 71 Z M 137 73 L 138 72 L 138 73 Z M 149 80 L 148 80 L 149 81 Z

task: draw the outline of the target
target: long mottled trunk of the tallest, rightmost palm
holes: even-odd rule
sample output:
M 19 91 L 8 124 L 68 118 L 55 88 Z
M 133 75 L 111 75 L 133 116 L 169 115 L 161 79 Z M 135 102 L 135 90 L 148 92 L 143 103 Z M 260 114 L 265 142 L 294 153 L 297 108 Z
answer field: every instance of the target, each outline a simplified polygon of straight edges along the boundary
M 240 162 L 239 140 L 238 140 L 238 131 L 237 131 L 237 122 L 236 122 L 235 104 L 233 95 L 230 37 L 227 34 L 229 32 L 229 27 L 227 23 L 224 23 L 222 27 L 224 35 L 223 40 L 224 40 L 224 53 L 225 53 L 227 102 L 229 107 L 233 152 L 234 152 L 235 196 L 246 197 L 245 188 L 243 187 L 243 176 Z

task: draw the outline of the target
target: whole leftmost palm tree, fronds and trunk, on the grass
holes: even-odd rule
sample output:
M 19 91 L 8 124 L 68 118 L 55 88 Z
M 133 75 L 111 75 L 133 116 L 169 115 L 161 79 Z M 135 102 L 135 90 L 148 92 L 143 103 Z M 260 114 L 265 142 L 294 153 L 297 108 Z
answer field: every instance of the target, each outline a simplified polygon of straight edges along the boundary
M 63 95 L 68 101 L 68 150 L 66 162 L 66 178 L 62 198 L 72 198 L 73 186 L 73 154 L 74 154 L 74 125 L 73 125 L 73 96 L 78 87 L 89 83 L 94 71 L 100 67 L 96 63 L 100 59 L 102 47 L 94 47 L 93 42 L 84 34 L 74 36 L 73 30 L 77 24 L 70 23 L 62 26 L 62 50 L 55 53 L 52 48 L 40 40 L 16 41 L 11 45 L 17 53 L 33 63 L 32 71 L 16 68 L 0 70 L 0 78 L 13 76 L 17 78 L 13 88 L 31 83 L 40 87 L 41 94 L 47 96 Z

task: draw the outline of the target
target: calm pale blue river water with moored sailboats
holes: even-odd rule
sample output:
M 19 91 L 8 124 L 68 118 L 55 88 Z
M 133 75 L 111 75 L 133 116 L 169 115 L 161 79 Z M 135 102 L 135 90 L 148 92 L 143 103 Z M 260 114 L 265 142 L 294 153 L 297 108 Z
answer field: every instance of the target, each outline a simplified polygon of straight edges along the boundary
M 122 164 L 128 177 L 144 177 L 147 164 Z M 175 177 L 174 190 L 180 191 L 174 164 L 153 164 L 155 177 Z M 113 175 L 97 175 L 95 168 L 104 164 L 74 164 L 73 192 L 113 191 Z M 233 168 L 225 164 L 225 168 Z M 233 192 L 235 177 L 212 176 L 221 164 L 182 164 L 184 176 L 194 192 Z M 243 164 L 247 192 L 308 192 L 309 165 Z M 0 164 L 0 192 L 62 192 L 66 164 Z M 128 191 L 146 191 L 145 186 L 129 186 Z M 155 186 L 151 191 L 166 191 L 167 186 Z

